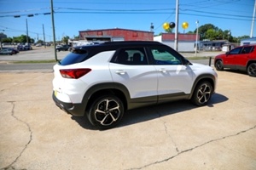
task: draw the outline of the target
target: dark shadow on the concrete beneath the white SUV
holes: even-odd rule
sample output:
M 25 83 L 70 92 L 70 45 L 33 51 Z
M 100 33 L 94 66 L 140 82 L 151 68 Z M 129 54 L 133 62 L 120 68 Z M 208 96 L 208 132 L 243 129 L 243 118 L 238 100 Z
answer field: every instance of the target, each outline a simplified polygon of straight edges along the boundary
M 210 100 L 209 104 L 204 107 L 214 107 L 214 105 L 223 103 L 227 100 L 228 98 L 222 94 L 214 94 L 212 95 L 212 99 Z M 172 103 L 138 108 L 127 111 L 123 116 L 121 122 L 119 122 L 119 125 L 115 128 L 130 126 L 132 124 L 146 122 L 149 120 L 160 118 L 162 116 L 169 116 L 182 111 L 194 110 L 196 108 L 198 108 L 198 106 L 192 105 L 189 100 L 180 100 Z M 72 116 L 72 119 L 78 122 L 81 127 L 91 130 L 97 130 L 95 127 L 90 125 L 90 122 L 88 121 L 86 116 Z

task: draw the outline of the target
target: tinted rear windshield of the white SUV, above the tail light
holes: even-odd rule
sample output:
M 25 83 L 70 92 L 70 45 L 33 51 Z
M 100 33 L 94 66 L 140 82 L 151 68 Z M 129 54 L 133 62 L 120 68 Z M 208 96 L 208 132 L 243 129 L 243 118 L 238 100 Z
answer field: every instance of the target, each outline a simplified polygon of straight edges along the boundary
M 70 54 L 67 54 L 67 56 L 61 60 L 60 65 L 73 65 L 80 63 L 84 61 L 87 56 L 87 50 L 74 48 Z

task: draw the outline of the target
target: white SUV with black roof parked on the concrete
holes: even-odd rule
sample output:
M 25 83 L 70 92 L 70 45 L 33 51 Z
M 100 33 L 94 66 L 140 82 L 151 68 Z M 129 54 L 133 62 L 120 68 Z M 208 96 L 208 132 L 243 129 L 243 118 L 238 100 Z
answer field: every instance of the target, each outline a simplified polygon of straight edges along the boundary
M 114 127 L 124 112 L 178 99 L 207 105 L 217 74 L 191 64 L 160 42 L 104 42 L 73 48 L 54 66 L 53 99 L 97 128 Z

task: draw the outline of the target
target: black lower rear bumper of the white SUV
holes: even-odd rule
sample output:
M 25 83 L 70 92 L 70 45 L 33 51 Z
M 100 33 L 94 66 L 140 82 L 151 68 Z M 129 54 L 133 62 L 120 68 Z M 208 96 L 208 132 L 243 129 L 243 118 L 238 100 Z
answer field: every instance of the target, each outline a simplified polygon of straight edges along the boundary
M 56 98 L 55 92 L 52 94 L 52 99 L 55 101 L 55 105 L 57 105 L 62 111 L 66 111 L 68 114 L 73 116 L 84 116 L 85 108 L 83 104 L 62 102 Z

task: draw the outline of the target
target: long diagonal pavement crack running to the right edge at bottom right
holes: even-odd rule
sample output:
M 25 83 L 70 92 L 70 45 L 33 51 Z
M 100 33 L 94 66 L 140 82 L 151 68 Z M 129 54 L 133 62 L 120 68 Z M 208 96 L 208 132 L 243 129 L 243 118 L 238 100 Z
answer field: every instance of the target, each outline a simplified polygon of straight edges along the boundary
M 168 158 L 166 158 L 166 159 L 164 159 L 164 160 L 161 160 L 161 161 L 154 161 L 153 163 L 149 163 L 148 165 L 145 165 L 145 166 L 143 166 L 143 167 L 132 167 L 132 168 L 130 168 L 130 169 L 128 169 L 128 170 L 143 169 L 144 167 L 150 167 L 150 166 L 153 166 L 153 165 L 155 165 L 155 164 L 162 163 L 162 162 L 164 162 L 164 161 L 170 161 L 170 160 L 172 160 L 173 158 L 175 158 L 175 157 L 177 157 L 177 156 L 180 156 L 180 155 L 182 155 L 182 154 L 184 154 L 184 153 L 186 153 L 186 152 L 189 152 L 189 151 L 195 150 L 195 149 L 197 149 L 197 148 L 200 148 L 201 146 L 210 144 L 210 143 L 212 143 L 212 142 L 216 142 L 216 141 L 218 141 L 218 140 L 231 138 L 231 137 L 237 136 L 237 135 L 239 135 L 239 134 L 241 134 L 241 133 L 246 133 L 246 132 L 248 132 L 248 131 L 250 131 L 250 130 L 253 130 L 254 128 L 256 128 L 256 125 L 255 125 L 254 127 L 251 127 L 251 128 L 246 129 L 246 130 L 243 130 L 243 131 L 241 131 L 241 132 L 239 132 L 239 133 L 230 134 L 230 135 L 228 135 L 228 136 L 224 136 L 224 137 L 219 138 L 219 139 L 212 139 L 212 140 L 207 141 L 206 143 L 197 145 L 197 146 L 195 146 L 195 147 L 193 147 L 193 148 L 189 148 L 188 150 L 182 150 L 182 151 L 178 152 L 176 155 L 171 156 L 171 157 L 168 157 Z

